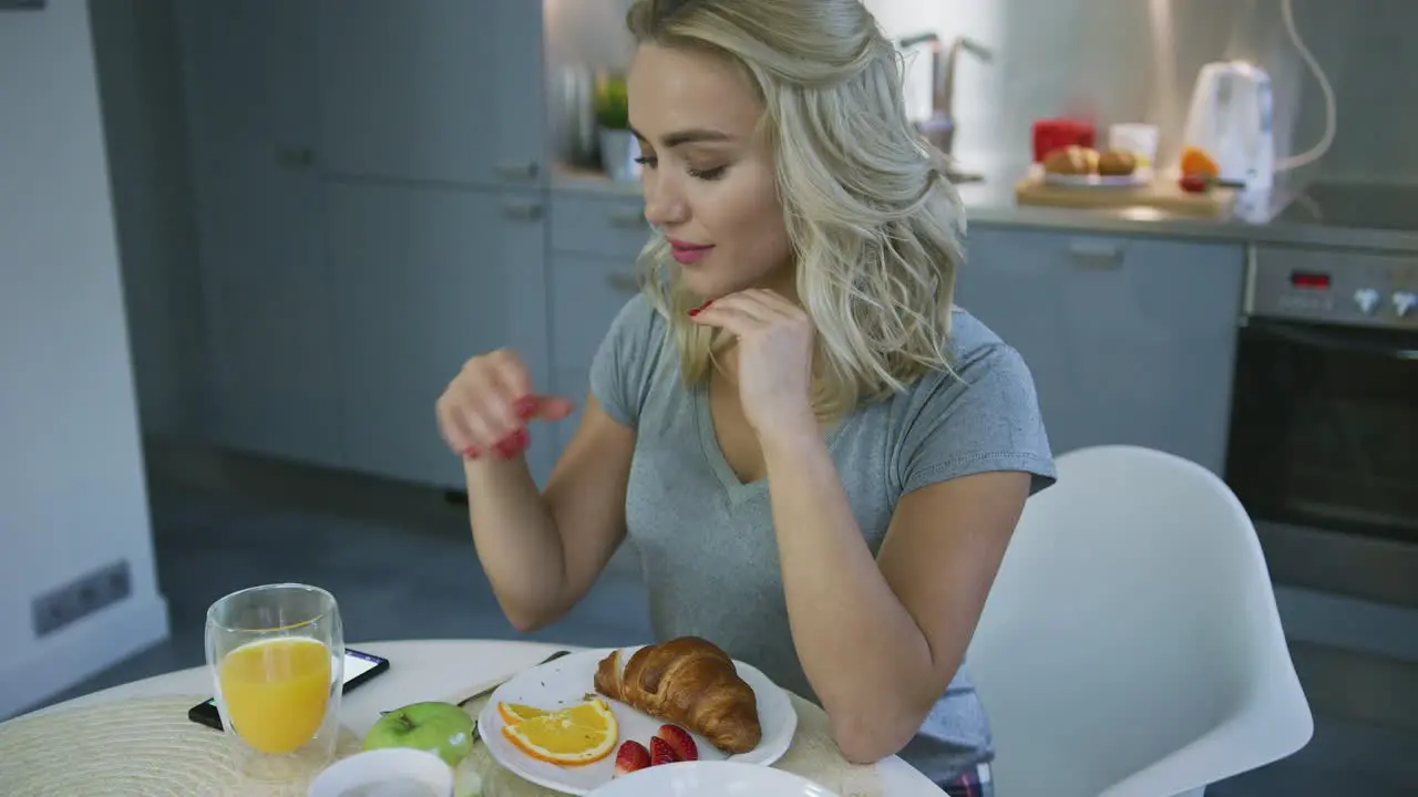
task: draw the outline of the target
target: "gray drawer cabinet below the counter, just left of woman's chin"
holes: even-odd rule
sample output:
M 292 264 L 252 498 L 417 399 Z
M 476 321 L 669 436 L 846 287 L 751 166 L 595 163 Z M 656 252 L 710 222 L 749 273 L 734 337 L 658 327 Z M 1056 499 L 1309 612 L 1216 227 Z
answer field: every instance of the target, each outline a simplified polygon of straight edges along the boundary
M 649 238 L 640 197 L 553 191 L 552 384 L 576 403 L 553 424 L 556 452 L 570 441 L 590 389 L 591 359 L 615 313 L 635 295 L 635 255 Z

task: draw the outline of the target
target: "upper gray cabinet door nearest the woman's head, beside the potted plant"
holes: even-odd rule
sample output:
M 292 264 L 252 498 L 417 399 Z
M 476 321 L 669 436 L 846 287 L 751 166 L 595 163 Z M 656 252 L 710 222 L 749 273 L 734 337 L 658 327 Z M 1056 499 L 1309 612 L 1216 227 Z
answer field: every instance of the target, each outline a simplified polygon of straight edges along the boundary
M 326 170 L 543 180 L 542 3 L 320 0 L 318 16 Z

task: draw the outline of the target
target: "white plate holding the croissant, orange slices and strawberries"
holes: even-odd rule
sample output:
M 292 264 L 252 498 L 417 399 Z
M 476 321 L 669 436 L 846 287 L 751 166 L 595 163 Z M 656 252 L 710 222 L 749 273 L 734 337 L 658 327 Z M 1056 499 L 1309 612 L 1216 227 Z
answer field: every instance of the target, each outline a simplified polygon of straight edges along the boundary
M 588 794 L 593 788 L 603 786 L 615 774 L 615 753 L 581 767 L 560 767 L 547 762 L 539 762 L 522 750 L 518 750 L 505 736 L 502 728 L 506 725 L 498 713 L 498 703 L 525 703 L 542 709 L 552 709 L 579 703 L 586 695 L 596 693 L 596 665 L 610 655 L 614 648 L 598 651 L 581 651 L 540 667 L 533 667 L 519 672 L 510 681 L 498 686 L 488 705 L 478 713 L 478 735 L 488 746 L 488 752 L 496 762 L 513 774 L 530 780 L 539 786 L 563 791 L 566 794 Z M 628 659 L 635 648 L 623 648 L 621 655 Z M 797 730 L 797 712 L 788 693 L 773 684 L 767 675 L 757 668 L 735 661 L 739 678 L 743 678 L 753 688 L 753 695 L 759 703 L 759 725 L 763 726 L 763 739 L 759 746 L 747 753 L 725 756 L 716 750 L 702 736 L 695 735 L 695 745 L 699 747 L 700 760 L 729 759 L 744 764 L 767 766 L 783 757 L 793 743 L 793 732 Z M 659 730 L 662 720 L 638 712 L 618 701 L 607 701 L 615 713 L 620 725 L 621 742 L 634 739 L 649 747 L 649 739 Z M 658 769 L 658 767 L 652 767 Z

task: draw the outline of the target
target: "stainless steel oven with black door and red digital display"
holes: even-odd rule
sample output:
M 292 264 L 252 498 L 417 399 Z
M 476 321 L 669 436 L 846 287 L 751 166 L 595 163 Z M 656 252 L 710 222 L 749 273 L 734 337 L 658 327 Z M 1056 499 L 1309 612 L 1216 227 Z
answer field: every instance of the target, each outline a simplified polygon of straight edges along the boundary
M 1418 255 L 1248 268 L 1225 479 L 1272 579 L 1418 607 Z

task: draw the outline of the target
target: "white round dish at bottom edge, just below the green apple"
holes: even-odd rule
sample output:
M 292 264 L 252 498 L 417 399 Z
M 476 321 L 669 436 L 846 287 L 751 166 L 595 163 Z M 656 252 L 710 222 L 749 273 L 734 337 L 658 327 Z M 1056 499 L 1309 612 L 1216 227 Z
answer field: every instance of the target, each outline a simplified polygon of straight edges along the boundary
M 452 769 L 442 759 L 411 747 L 356 753 L 326 767 L 306 797 L 452 797 Z

